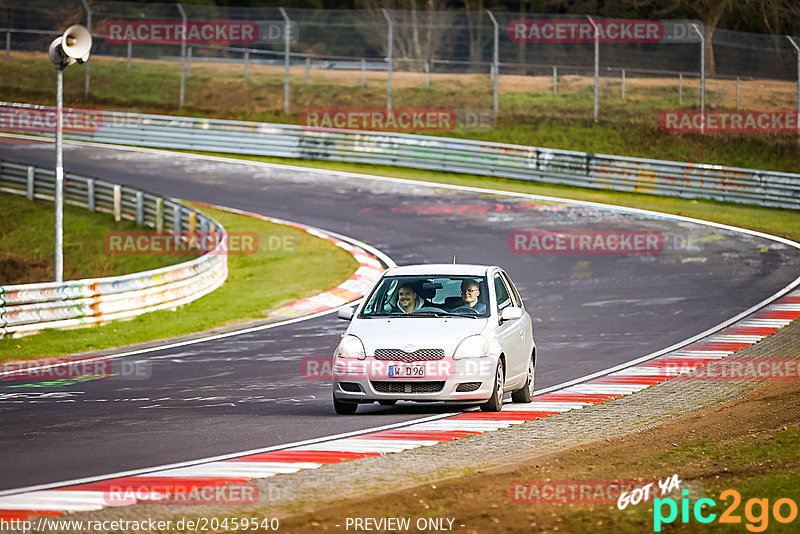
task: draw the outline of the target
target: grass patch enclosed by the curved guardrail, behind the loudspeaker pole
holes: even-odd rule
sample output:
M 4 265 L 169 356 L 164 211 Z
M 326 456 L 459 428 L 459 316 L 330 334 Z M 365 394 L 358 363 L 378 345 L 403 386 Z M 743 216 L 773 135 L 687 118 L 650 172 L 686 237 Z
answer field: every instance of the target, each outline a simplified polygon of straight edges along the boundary
M 52 282 L 54 211 L 47 201 L 0 193 L 0 284 Z M 111 231 L 141 231 L 130 221 L 64 206 L 64 280 L 113 276 L 190 260 L 195 256 L 107 254 L 103 238 Z

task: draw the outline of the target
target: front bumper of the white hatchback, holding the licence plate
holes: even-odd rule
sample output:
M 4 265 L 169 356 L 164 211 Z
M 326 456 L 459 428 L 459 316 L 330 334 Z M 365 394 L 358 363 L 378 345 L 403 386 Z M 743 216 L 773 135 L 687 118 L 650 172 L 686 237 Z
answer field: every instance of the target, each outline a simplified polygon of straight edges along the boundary
M 333 394 L 338 400 L 375 402 L 409 400 L 422 402 L 475 402 L 492 396 L 498 356 L 453 360 L 397 362 L 335 358 Z M 390 367 L 400 366 L 400 376 Z M 419 367 L 423 376 L 415 376 Z

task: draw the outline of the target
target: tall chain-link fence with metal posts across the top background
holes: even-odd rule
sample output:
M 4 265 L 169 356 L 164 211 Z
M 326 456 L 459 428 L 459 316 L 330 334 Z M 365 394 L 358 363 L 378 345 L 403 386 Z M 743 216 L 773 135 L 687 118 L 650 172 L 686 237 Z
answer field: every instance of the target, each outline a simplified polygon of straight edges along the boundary
M 164 100 L 178 108 L 187 102 L 203 109 L 214 98 L 203 84 L 187 82 L 210 65 L 243 82 L 264 76 L 262 94 L 231 88 L 231 95 L 250 109 L 289 114 L 449 103 L 519 116 L 525 111 L 515 94 L 540 97 L 539 109 L 595 120 L 622 102 L 659 109 L 800 106 L 800 39 L 712 30 L 699 21 L 18 1 L 0 6 L 5 58 L 42 53 L 75 23 L 94 35 L 93 64 L 114 58 L 127 71 L 145 60 L 172 65 L 163 76 L 180 79 L 178 94 Z M 237 23 L 240 33 L 231 29 Z M 92 94 L 91 77 L 87 67 L 84 98 Z

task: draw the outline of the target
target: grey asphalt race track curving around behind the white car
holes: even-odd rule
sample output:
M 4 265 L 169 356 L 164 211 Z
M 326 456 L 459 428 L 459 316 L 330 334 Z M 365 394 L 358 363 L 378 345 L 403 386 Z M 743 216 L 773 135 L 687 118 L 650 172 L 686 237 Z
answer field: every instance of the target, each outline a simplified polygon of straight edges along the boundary
M 0 137 L 0 159 L 53 166 L 51 143 Z M 617 209 L 368 180 L 180 154 L 65 144 L 69 172 L 221 204 L 364 241 L 398 264 L 503 266 L 534 317 L 538 388 L 670 346 L 771 296 L 800 251 L 726 229 Z M 659 231 L 655 254 L 524 254 L 517 230 Z M 281 283 L 276 280 L 275 283 Z M 277 446 L 447 413 L 444 405 L 335 416 L 328 382 L 301 360 L 330 355 L 327 315 L 125 357 L 146 380 L 0 384 L 0 490 Z

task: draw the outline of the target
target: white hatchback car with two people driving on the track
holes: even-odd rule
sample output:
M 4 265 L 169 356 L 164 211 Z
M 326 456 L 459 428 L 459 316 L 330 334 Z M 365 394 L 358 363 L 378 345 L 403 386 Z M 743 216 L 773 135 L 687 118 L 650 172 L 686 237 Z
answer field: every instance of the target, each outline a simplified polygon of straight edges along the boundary
M 530 402 L 536 369 L 533 325 L 497 266 L 428 264 L 383 273 L 356 308 L 333 361 L 333 406 L 398 400 L 480 403 L 503 395 Z

